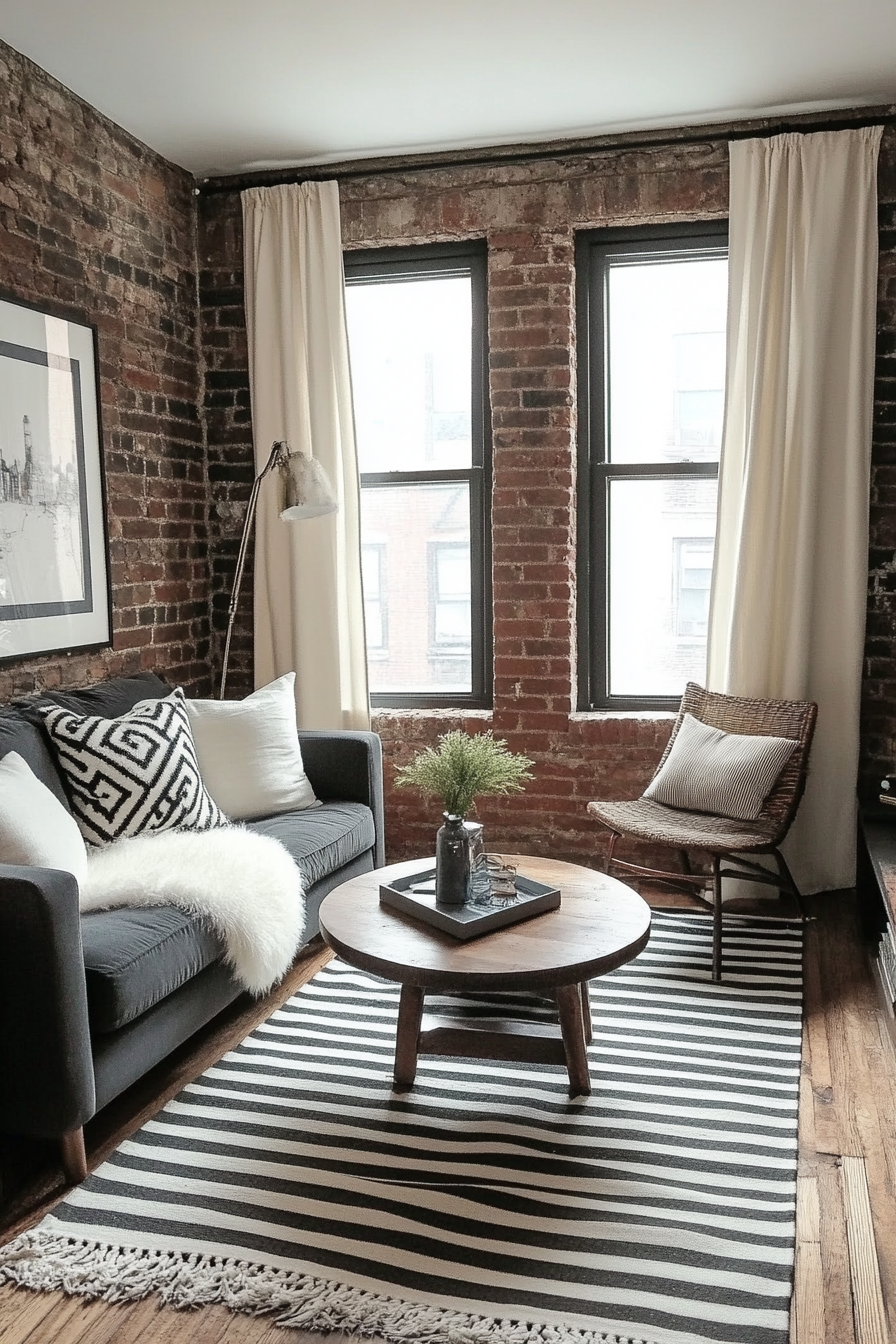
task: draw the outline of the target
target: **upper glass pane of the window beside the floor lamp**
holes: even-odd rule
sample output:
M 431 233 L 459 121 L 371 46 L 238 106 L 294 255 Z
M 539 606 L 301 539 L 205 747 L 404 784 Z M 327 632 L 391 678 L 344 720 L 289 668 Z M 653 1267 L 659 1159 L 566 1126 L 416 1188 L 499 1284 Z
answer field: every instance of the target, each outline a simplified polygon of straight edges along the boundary
M 345 288 L 361 472 L 470 466 L 469 276 Z

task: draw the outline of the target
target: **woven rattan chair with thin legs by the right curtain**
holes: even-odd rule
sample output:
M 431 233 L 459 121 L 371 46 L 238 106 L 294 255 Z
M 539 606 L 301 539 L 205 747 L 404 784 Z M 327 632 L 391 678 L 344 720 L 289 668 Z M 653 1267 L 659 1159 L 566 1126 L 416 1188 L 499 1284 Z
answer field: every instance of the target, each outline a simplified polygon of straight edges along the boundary
M 712 978 L 721 980 L 723 878 L 742 878 L 778 887 L 779 891 L 795 896 L 802 914 L 799 888 L 778 847 L 790 829 L 806 788 L 809 750 L 815 731 L 818 707 L 809 700 L 751 700 L 744 696 L 720 695 L 715 691 L 704 691 L 703 687 L 689 681 L 669 745 L 657 766 L 654 778 L 669 755 L 685 714 L 693 715 L 695 719 L 700 719 L 711 727 L 721 728 L 724 732 L 797 739 L 799 746 L 778 775 L 776 784 L 763 802 L 758 820 L 732 821 L 728 817 L 711 816 L 704 812 L 685 812 L 643 797 L 633 802 L 590 802 L 588 813 L 610 831 L 606 856 L 607 872 L 619 870 L 619 872 L 634 876 L 684 887 L 712 907 Z M 669 872 L 617 859 L 614 851 L 622 836 L 676 849 L 681 860 L 681 871 Z M 692 870 L 690 855 L 695 852 L 709 856 L 711 872 Z M 760 853 L 772 856 L 778 866 L 776 872 L 744 857 Z M 728 867 L 728 864 L 736 864 L 736 867 Z M 703 894 L 708 887 L 712 891 L 712 900 Z

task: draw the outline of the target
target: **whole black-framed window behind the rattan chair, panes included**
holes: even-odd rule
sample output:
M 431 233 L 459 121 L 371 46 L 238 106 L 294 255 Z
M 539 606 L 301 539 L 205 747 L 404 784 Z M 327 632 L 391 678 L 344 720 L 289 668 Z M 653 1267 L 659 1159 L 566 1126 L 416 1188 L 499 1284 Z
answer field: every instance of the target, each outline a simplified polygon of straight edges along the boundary
M 579 704 L 704 681 L 725 396 L 719 224 L 578 241 Z

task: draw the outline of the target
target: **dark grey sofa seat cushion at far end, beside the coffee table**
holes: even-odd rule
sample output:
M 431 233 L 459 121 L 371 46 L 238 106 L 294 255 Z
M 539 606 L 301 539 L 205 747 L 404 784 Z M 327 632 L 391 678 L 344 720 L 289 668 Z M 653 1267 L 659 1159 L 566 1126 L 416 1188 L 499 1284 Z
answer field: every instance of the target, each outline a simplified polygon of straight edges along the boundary
M 363 802 L 324 802 L 304 812 L 247 821 L 246 827 L 286 845 L 302 870 L 306 891 L 376 844 L 373 813 Z

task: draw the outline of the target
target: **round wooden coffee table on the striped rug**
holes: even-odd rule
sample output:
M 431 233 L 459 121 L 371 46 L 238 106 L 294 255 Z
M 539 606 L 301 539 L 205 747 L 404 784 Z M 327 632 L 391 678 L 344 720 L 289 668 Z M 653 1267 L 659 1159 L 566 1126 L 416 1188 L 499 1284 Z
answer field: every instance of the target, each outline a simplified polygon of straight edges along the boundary
M 380 883 L 422 871 L 434 860 L 394 863 L 334 887 L 324 898 L 324 941 L 352 966 L 402 986 L 395 1038 L 395 1090 L 414 1086 L 418 1055 L 520 1059 L 566 1064 L 570 1095 L 591 1091 L 588 980 L 637 957 L 650 937 L 650 909 L 615 878 L 575 863 L 508 855 L 523 876 L 560 888 L 560 906 L 459 942 L 380 905 Z M 426 991 L 529 991 L 553 996 L 549 1023 L 423 1017 Z

